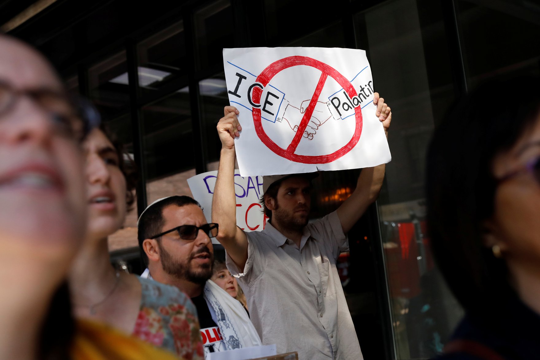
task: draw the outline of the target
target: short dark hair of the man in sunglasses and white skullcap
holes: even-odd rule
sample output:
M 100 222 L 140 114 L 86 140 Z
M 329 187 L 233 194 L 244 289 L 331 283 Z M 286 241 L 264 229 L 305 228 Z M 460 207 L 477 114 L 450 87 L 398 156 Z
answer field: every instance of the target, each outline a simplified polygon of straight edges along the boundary
M 144 252 L 143 242 L 145 241 L 145 239 L 156 236 L 161 231 L 163 231 L 162 228 L 163 225 L 165 225 L 163 209 L 165 209 L 169 205 L 176 205 L 181 207 L 190 204 L 197 205 L 199 206 L 199 208 L 201 207 L 201 205 L 192 197 L 184 195 L 170 196 L 149 206 L 143 212 L 143 215 L 140 216 L 139 222 L 137 224 L 137 238 L 139 240 L 140 254 L 141 257 L 143 257 L 146 265 L 148 265 L 148 257 L 146 256 L 146 252 Z

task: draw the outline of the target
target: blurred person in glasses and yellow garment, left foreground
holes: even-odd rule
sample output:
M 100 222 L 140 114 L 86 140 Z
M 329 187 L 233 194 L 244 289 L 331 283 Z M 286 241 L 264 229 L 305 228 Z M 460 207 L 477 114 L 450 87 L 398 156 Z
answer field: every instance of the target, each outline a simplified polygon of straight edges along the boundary
M 46 59 L 0 35 L 0 358 L 172 359 L 75 321 L 65 279 L 86 230 L 80 142 L 99 122 Z

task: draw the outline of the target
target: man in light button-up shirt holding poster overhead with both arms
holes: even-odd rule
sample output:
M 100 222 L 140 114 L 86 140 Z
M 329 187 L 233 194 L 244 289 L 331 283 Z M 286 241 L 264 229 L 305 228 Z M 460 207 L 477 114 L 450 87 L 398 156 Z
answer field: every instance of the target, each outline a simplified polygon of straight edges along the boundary
M 387 132 L 392 119 L 374 93 L 376 115 Z M 385 165 L 365 168 L 356 190 L 339 207 L 308 224 L 314 173 L 264 177 L 264 206 L 270 221 L 261 232 L 236 226 L 234 139 L 241 125 L 234 106 L 225 106 L 217 129 L 221 139 L 212 220 L 227 266 L 246 292 L 251 319 L 263 344 L 278 352 L 298 351 L 301 359 L 361 359 L 362 353 L 340 285 L 336 260 L 348 251 L 347 232 L 381 189 Z

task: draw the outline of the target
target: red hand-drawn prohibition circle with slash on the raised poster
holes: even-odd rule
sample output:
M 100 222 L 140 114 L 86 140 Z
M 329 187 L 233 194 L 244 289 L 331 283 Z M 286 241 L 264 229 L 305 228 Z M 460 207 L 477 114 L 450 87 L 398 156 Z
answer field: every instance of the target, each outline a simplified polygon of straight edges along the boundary
M 291 144 L 289 144 L 289 146 L 287 146 L 287 149 L 283 149 L 281 148 L 281 146 L 276 144 L 271 138 L 269 138 L 265 130 L 262 128 L 260 108 L 253 108 L 253 122 L 255 124 L 255 132 L 257 132 L 257 136 L 259 136 L 262 143 L 264 143 L 268 147 L 268 149 L 275 152 L 275 154 L 281 157 L 284 157 L 286 159 L 289 159 L 291 161 L 294 161 L 297 163 L 304 163 L 304 164 L 326 164 L 326 163 L 333 162 L 336 159 L 339 159 L 343 155 L 347 154 L 350 150 L 352 150 L 354 146 L 356 146 L 356 144 L 360 140 L 360 135 L 362 134 L 362 110 L 360 109 L 359 106 L 357 106 L 354 109 L 356 126 L 355 126 L 353 137 L 341 149 L 332 152 L 332 154 L 315 155 L 315 156 L 298 155 L 298 154 L 294 154 L 294 152 L 296 151 L 296 148 L 298 147 L 298 144 L 300 143 L 300 140 L 302 139 L 303 132 L 306 130 L 307 124 L 309 123 L 309 120 L 311 119 L 313 110 L 315 109 L 315 105 L 319 99 L 319 95 L 321 94 L 322 88 L 323 86 L 325 86 L 327 77 L 330 76 L 336 82 L 338 82 L 338 84 L 340 84 L 343 87 L 343 90 L 347 92 L 347 95 L 350 98 L 357 95 L 356 92 L 354 91 L 353 84 L 351 84 L 350 81 L 348 81 L 347 78 L 341 75 L 336 69 L 332 68 L 332 66 L 327 65 L 323 62 L 320 62 L 319 60 L 316 60 L 314 58 L 307 57 L 307 56 L 289 56 L 289 57 L 285 57 L 277 61 L 274 61 L 272 64 L 268 65 L 266 69 L 262 70 L 261 74 L 257 77 L 257 79 L 255 79 L 255 81 L 262 84 L 262 86 L 266 86 L 272 80 L 272 78 L 276 74 L 278 74 L 278 72 L 285 70 L 287 68 L 291 68 L 292 66 L 298 66 L 298 65 L 312 66 L 315 69 L 321 70 L 322 74 L 321 74 L 321 77 L 319 78 L 319 82 L 317 83 L 312 99 L 309 102 L 309 105 L 302 117 L 302 121 L 300 122 L 300 125 L 298 126 L 298 130 L 296 130 L 296 134 L 294 135 L 293 141 L 291 142 Z M 253 103 L 260 104 L 261 96 L 262 96 L 262 89 L 259 88 L 258 86 L 255 86 L 252 92 Z

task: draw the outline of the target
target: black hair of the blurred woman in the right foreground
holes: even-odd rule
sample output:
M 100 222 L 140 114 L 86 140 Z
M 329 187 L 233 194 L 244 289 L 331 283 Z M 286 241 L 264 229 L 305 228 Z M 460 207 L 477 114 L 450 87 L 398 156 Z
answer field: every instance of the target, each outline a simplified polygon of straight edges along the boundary
M 454 106 L 429 145 L 427 222 L 433 253 L 458 301 L 477 313 L 487 314 L 515 294 L 506 263 L 483 244 L 482 223 L 494 212 L 492 161 L 536 123 L 538 84 L 536 77 L 484 83 Z

